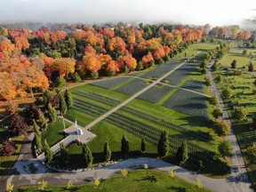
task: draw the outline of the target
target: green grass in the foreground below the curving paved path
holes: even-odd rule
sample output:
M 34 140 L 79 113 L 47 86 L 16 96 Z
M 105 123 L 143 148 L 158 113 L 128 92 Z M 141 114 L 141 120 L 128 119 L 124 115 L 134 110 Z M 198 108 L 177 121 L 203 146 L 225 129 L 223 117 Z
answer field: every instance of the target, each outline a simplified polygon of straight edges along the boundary
M 204 183 L 203 183 L 204 185 Z M 25 187 L 25 188 L 15 188 L 13 191 L 37 191 L 38 187 Z M 67 191 L 65 186 L 53 187 L 49 186 L 45 188 L 46 191 Z M 118 173 L 116 176 L 109 178 L 108 180 L 100 181 L 99 188 L 95 188 L 93 183 L 74 186 L 68 191 L 105 191 L 105 192 L 117 192 L 117 191 L 127 191 L 127 192 L 136 192 L 136 191 L 211 191 L 205 188 L 197 188 L 195 184 L 189 183 L 180 178 L 174 177 L 173 179 L 165 172 L 160 172 L 156 170 L 136 170 L 128 171 L 128 175 L 123 178 L 121 173 Z

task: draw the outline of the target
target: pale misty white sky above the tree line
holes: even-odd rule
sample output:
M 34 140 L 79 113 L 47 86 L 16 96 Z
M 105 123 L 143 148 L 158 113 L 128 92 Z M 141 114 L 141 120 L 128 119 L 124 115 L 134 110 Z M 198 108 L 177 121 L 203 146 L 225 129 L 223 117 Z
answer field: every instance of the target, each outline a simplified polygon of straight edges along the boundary
M 256 0 L 0 0 L 0 22 L 161 22 L 212 26 L 256 16 Z

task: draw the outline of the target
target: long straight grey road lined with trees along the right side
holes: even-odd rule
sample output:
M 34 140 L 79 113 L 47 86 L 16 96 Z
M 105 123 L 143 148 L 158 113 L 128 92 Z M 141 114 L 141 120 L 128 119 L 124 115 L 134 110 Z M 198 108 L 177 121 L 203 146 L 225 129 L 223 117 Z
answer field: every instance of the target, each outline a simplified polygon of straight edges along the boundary
M 223 116 L 222 119 L 228 122 L 232 128 L 232 124 L 230 121 L 230 118 L 228 116 L 228 109 L 225 106 L 224 101 L 221 98 L 220 91 L 217 88 L 217 85 L 213 81 L 213 76 L 212 76 L 212 65 L 214 63 L 214 60 L 211 60 L 211 62 L 208 65 L 208 70 L 207 70 L 207 75 L 211 78 L 212 80 L 212 85 L 210 87 L 211 91 L 213 94 L 218 95 L 220 104 L 218 107 L 222 108 L 223 110 Z M 241 149 L 237 143 L 236 140 L 236 135 L 231 131 L 231 134 L 228 135 L 225 140 L 231 140 L 234 151 L 233 151 L 233 156 L 231 157 L 231 176 L 233 176 L 234 182 L 233 191 L 241 191 L 241 192 L 247 192 L 247 191 L 253 191 L 252 190 L 252 184 L 248 178 L 248 173 L 247 170 L 244 166 L 244 158 L 242 156 Z

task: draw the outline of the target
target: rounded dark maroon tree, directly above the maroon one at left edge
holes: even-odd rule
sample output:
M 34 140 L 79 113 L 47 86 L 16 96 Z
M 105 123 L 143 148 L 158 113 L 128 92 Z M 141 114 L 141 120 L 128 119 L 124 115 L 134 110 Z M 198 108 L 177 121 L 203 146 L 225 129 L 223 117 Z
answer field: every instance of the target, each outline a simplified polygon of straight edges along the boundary
M 10 120 L 8 131 L 14 135 L 25 135 L 28 132 L 28 124 L 19 114 L 14 114 Z

